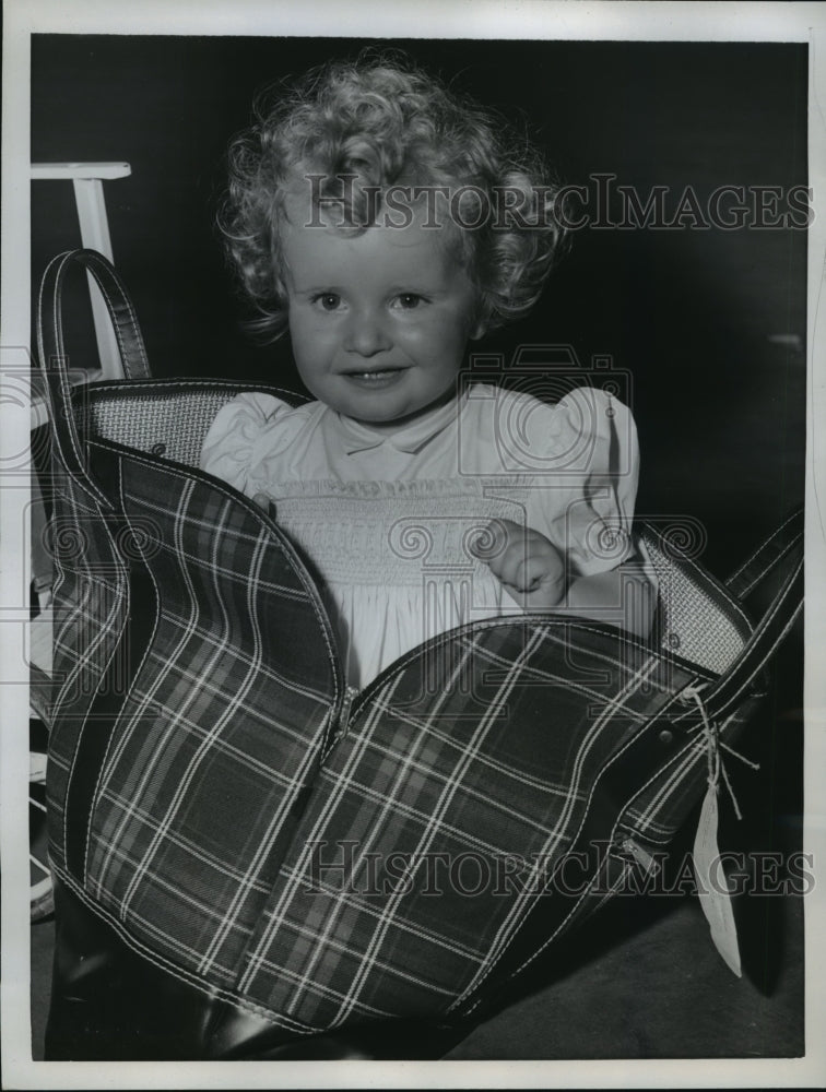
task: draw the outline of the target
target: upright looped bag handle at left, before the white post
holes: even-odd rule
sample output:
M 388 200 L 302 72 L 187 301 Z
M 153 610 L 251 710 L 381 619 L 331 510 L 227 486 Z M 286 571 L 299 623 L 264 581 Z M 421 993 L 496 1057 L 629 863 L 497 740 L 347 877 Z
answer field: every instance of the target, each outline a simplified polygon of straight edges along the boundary
M 63 346 L 63 282 L 73 266 L 91 274 L 106 304 L 128 379 L 151 376 L 143 336 L 129 293 L 108 259 L 96 250 L 67 250 L 49 262 L 37 305 L 37 348 L 49 395 L 52 436 L 67 471 L 104 508 L 111 508 L 88 473 L 72 408 L 69 358 Z

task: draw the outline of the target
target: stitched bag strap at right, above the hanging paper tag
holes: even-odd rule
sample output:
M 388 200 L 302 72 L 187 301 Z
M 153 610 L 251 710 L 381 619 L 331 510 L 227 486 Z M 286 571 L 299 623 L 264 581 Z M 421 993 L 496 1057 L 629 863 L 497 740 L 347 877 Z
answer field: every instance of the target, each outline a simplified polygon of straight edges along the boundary
M 744 700 L 754 679 L 786 638 L 802 609 L 803 523 L 801 509 L 767 538 L 728 582 L 732 591 L 745 595 L 770 577 L 782 577 L 779 591 L 733 665 L 703 693 L 707 714 L 712 720 L 724 719 Z

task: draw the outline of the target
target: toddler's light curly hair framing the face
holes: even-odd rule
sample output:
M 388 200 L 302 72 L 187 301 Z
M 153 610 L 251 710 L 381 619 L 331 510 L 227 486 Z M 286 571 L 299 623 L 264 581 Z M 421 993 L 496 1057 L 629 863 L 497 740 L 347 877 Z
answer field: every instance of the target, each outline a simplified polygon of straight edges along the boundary
M 398 54 L 332 61 L 286 91 L 263 93 L 228 162 L 219 225 L 258 311 L 249 325 L 270 340 L 287 325 L 279 222 L 302 177 L 315 178 L 316 204 L 338 203 L 341 229 L 356 233 L 376 222 L 377 192 L 449 192 L 460 228 L 451 239 L 485 330 L 531 309 L 564 246 L 559 187 L 540 153 Z

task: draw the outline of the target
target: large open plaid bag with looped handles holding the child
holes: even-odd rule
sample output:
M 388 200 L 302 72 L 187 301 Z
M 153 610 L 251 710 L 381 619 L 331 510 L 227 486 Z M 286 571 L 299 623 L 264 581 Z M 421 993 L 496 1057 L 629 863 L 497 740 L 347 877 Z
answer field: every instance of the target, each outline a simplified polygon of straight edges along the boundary
M 72 265 L 109 300 L 127 381 L 70 390 Z M 640 529 L 660 586 L 648 642 L 553 612 L 477 621 L 351 700 L 302 558 L 198 468 L 217 410 L 266 388 L 148 378 L 123 286 L 91 251 L 48 268 L 40 339 L 58 570 L 47 1056 L 274 1057 L 376 1021 L 449 1025 L 646 871 L 800 609 L 800 517 L 728 585 Z M 778 570 L 752 625 L 739 597 Z

